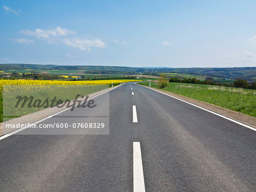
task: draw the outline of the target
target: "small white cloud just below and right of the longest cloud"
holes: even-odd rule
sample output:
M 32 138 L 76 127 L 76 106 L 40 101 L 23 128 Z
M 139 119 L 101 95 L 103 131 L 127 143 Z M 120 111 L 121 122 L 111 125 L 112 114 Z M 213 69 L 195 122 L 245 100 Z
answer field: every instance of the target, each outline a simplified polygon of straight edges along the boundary
M 73 39 L 64 39 L 64 44 L 79 48 L 81 50 L 90 50 L 92 47 L 97 48 L 104 48 L 105 43 L 101 40 L 88 40 L 88 39 L 81 39 L 81 38 L 73 38 Z

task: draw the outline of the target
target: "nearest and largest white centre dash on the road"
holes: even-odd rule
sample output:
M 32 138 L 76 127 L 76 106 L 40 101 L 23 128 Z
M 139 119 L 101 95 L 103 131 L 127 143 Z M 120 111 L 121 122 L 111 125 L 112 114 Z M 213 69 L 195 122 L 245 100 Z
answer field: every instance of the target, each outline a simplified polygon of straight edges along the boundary
M 141 144 L 133 142 L 133 191 L 145 191 Z

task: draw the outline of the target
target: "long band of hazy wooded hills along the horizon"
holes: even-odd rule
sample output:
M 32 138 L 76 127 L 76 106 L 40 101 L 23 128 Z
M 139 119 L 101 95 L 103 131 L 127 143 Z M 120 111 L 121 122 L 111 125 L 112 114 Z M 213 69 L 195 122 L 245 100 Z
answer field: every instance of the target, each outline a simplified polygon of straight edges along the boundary
M 126 66 L 92 66 L 92 65 L 39 65 L 39 64 L 0 64 L 0 70 L 13 69 L 76 69 L 89 70 L 98 73 L 189 73 L 203 74 L 205 76 L 216 76 L 226 78 L 242 78 L 245 80 L 256 79 L 256 67 L 241 68 L 132 68 Z

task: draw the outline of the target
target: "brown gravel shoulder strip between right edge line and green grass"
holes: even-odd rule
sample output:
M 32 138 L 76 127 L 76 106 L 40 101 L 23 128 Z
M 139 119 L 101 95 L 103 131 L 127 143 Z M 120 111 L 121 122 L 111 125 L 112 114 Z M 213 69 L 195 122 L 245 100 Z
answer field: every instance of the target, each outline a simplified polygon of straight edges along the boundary
M 143 85 L 141 85 L 141 86 L 143 86 Z M 147 87 L 147 86 L 145 86 L 145 87 Z M 182 99 L 183 101 L 193 103 L 194 105 L 206 108 L 210 111 L 216 112 L 217 114 L 224 115 L 224 116 L 226 116 L 230 119 L 237 120 L 238 122 L 241 122 L 241 123 L 247 124 L 248 126 L 256 128 L 256 118 L 254 118 L 253 116 L 245 115 L 245 114 L 242 114 L 241 112 L 232 111 L 232 110 L 229 110 L 227 108 L 218 107 L 216 105 L 212 105 L 210 103 L 205 103 L 203 101 L 198 101 L 196 99 L 184 97 L 182 95 L 171 93 L 169 91 L 155 89 L 155 88 L 152 88 L 152 87 L 150 87 L 150 89 L 158 90 L 162 93 L 166 93 L 166 94 L 171 95 L 173 97 Z

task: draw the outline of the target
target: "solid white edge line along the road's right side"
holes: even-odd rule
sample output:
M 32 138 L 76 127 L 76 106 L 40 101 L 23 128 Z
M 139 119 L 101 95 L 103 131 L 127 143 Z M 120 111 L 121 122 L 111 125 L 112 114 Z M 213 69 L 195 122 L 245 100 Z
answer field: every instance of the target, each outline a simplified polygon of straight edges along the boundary
M 137 85 L 138 85 L 138 84 L 137 84 Z M 142 85 L 139 85 L 139 86 L 142 86 Z M 145 87 L 145 88 L 147 88 L 147 89 L 151 89 L 150 87 L 146 87 L 146 86 L 142 86 L 142 87 Z M 155 89 L 151 89 L 151 90 L 154 90 L 154 91 L 156 91 L 156 92 L 162 93 L 161 91 L 158 91 L 158 90 L 155 90 Z M 210 111 L 210 110 L 208 110 L 207 108 L 203 108 L 203 107 L 197 106 L 197 105 L 195 105 L 195 104 L 193 104 L 193 103 L 189 103 L 189 102 L 187 102 L 187 101 L 184 101 L 184 100 L 182 100 L 182 99 L 176 98 L 176 97 L 174 97 L 174 96 L 172 96 L 172 95 L 168 95 L 168 94 L 166 94 L 166 93 L 162 93 L 162 94 L 167 95 L 167 96 L 172 97 L 172 98 L 175 98 L 175 99 L 177 99 L 177 100 L 179 100 L 179 101 L 188 103 L 189 105 L 192 105 L 192 106 L 201 108 L 201 109 L 203 109 L 203 110 L 205 110 L 205 111 L 208 111 L 208 112 L 210 112 L 210 113 L 212 113 L 212 114 L 214 114 L 214 115 L 220 116 L 221 118 L 228 119 L 228 120 L 230 120 L 231 122 L 240 124 L 241 126 L 246 127 L 246 128 L 249 128 L 250 130 L 256 131 L 256 128 L 254 128 L 254 127 L 251 127 L 251 126 L 248 126 L 247 124 L 238 122 L 237 120 L 228 118 L 227 116 L 218 114 L 217 112 Z

